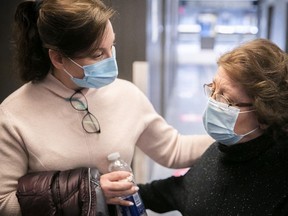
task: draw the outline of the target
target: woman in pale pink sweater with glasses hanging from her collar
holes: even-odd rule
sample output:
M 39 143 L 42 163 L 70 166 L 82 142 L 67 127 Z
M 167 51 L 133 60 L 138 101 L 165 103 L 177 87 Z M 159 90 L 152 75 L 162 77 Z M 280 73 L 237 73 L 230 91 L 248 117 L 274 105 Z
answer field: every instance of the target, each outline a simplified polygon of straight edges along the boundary
M 25 84 L 0 106 L 0 215 L 110 215 L 131 205 L 135 147 L 167 167 L 187 167 L 212 143 L 183 136 L 143 93 L 117 78 L 114 10 L 100 0 L 24 1 L 15 13 L 17 69 Z M 172 152 L 172 154 L 170 154 Z M 169 153 L 169 154 L 167 154 Z M 21 213 L 22 212 L 22 213 Z

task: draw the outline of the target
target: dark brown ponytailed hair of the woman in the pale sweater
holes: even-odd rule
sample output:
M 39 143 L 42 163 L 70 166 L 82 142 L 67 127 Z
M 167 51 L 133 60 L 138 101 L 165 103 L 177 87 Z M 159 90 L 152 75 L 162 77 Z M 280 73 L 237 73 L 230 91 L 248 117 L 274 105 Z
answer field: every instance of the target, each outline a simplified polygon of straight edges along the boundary
M 15 66 L 24 82 L 43 80 L 52 64 L 48 50 L 84 57 L 103 39 L 115 11 L 100 0 L 25 1 L 14 22 Z

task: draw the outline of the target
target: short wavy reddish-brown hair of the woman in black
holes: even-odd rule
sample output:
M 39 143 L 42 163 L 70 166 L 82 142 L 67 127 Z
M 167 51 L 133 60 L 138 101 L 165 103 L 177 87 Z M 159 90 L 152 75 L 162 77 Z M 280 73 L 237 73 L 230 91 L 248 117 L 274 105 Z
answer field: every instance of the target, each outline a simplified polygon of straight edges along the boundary
M 218 60 L 253 99 L 258 121 L 274 134 L 288 132 L 288 55 L 267 39 L 246 42 Z

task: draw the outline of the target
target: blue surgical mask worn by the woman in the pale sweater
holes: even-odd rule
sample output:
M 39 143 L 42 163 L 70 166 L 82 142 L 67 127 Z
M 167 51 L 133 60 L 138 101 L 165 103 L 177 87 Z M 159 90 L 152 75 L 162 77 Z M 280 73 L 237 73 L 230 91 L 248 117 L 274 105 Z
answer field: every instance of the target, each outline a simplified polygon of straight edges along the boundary
M 71 80 L 79 87 L 101 88 L 112 83 L 118 76 L 114 46 L 112 47 L 112 57 L 106 58 L 94 64 L 81 66 L 72 59 L 70 60 L 84 70 L 84 77 L 79 79 L 73 77 L 66 69 L 64 69 L 64 71 L 71 77 Z

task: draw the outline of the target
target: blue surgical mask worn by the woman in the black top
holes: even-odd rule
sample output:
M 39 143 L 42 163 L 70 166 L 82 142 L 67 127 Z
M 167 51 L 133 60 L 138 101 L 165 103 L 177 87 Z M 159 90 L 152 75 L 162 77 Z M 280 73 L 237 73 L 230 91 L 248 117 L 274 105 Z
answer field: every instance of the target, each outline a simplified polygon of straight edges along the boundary
M 207 133 L 217 142 L 225 145 L 233 145 L 239 142 L 244 136 L 258 129 L 257 127 L 245 134 L 236 134 L 234 132 L 238 115 L 253 111 L 255 110 L 240 112 L 240 109 L 236 107 L 228 106 L 213 98 L 209 98 L 207 108 L 203 115 L 203 124 Z

